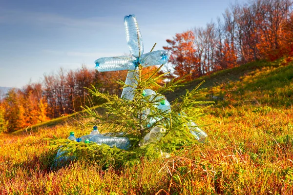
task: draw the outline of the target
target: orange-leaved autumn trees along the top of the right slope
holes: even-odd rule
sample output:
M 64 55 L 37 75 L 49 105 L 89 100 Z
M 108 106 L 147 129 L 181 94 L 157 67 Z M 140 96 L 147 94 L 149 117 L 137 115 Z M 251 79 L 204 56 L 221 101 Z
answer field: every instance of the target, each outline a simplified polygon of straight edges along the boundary
M 167 39 L 173 77 L 194 79 L 254 60 L 293 56 L 292 0 L 233 4 L 223 18 Z

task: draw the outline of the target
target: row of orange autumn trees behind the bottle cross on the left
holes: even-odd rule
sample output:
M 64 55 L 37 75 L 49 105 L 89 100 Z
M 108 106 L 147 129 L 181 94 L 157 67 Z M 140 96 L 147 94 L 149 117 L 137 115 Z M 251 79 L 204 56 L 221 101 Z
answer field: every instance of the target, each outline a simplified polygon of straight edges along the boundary
M 122 87 L 112 80 L 125 80 L 126 71 L 99 73 L 86 66 L 78 70 L 44 75 L 41 82 L 30 83 L 22 89 L 11 89 L 0 99 L 0 132 L 13 132 L 51 118 L 81 111 L 81 106 L 96 105 L 87 88 L 121 94 Z

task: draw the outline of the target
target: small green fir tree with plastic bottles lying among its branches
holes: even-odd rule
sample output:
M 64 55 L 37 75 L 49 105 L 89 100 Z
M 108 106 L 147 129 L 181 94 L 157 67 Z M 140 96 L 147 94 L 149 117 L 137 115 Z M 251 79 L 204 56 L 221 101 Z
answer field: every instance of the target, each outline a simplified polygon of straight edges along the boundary
M 133 100 L 119 98 L 116 94 L 100 93 L 97 89 L 88 89 L 93 97 L 103 100 L 100 108 L 105 110 L 105 113 L 100 115 L 95 109 L 86 107 L 87 117 L 92 117 L 94 121 L 92 125 L 99 125 L 101 133 L 105 132 L 124 132 L 125 137 L 128 137 L 131 142 L 131 148 L 128 151 L 120 150 L 116 147 L 110 148 L 107 145 L 102 146 L 96 143 L 85 144 L 83 142 L 68 142 L 68 140 L 49 139 L 51 148 L 62 146 L 62 150 L 66 151 L 65 155 L 72 155 L 78 159 L 93 159 L 95 161 L 109 165 L 109 162 L 114 161 L 115 165 L 125 164 L 130 159 L 139 159 L 141 156 L 155 157 L 161 156 L 162 151 L 172 152 L 182 146 L 194 144 L 197 140 L 189 132 L 191 121 L 196 121 L 207 112 L 205 110 L 209 106 L 203 107 L 203 104 L 212 102 L 196 101 L 197 96 L 202 89 L 198 89 L 200 83 L 192 91 L 186 90 L 186 94 L 176 98 L 171 103 L 171 112 L 163 112 L 156 105 L 165 97 L 167 91 L 173 91 L 174 88 L 183 86 L 180 83 L 189 75 L 180 78 L 172 79 L 170 82 L 160 86 L 157 80 L 162 79 L 167 73 L 156 76 L 159 69 L 142 75 L 142 66 L 138 64 L 137 86 L 134 90 Z M 128 85 L 119 80 L 115 81 L 124 87 Z M 158 88 L 156 95 L 153 98 L 143 95 L 145 89 Z M 146 115 L 148 113 L 148 115 Z M 149 123 L 152 118 L 156 118 L 156 122 Z M 166 129 L 164 136 L 156 143 L 148 144 L 139 147 L 139 141 L 155 126 L 161 126 Z M 115 134 L 114 134 L 115 135 Z M 126 160 L 128 159 L 128 160 Z

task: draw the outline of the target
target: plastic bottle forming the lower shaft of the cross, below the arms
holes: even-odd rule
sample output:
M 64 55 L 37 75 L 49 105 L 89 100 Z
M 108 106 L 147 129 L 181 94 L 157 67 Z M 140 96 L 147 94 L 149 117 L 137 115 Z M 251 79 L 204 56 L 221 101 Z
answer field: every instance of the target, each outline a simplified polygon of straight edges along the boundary
M 126 85 L 130 85 L 129 87 L 124 87 L 122 94 L 121 94 L 121 98 L 126 98 L 128 100 L 132 100 L 134 97 L 134 89 L 137 86 L 137 80 L 138 80 L 138 67 L 136 67 L 135 69 L 133 69 L 134 71 L 128 71 L 126 80 L 125 80 L 125 84 Z

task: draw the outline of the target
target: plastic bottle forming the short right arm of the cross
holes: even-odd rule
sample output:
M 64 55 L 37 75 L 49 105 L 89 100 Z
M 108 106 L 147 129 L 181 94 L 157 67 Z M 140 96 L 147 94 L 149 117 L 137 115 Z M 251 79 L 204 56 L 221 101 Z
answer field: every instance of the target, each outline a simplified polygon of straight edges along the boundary
M 143 67 L 166 64 L 169 57 L 165 50 L 158 50 L 141 55 L 139 63 Z

